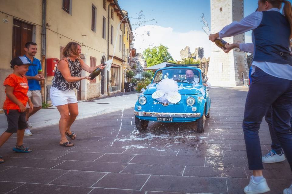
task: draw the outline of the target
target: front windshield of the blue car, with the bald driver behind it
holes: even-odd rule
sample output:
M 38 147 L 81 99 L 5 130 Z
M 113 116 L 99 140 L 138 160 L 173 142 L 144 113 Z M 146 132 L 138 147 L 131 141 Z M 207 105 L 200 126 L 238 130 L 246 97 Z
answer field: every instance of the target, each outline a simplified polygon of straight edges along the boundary
M 196 69 L 162 69 L 155 74 L 153 83 L 158 83 L 162 79 L 169 78 L 177 82 L 199 83 L 200 72 Z

